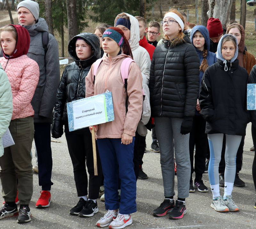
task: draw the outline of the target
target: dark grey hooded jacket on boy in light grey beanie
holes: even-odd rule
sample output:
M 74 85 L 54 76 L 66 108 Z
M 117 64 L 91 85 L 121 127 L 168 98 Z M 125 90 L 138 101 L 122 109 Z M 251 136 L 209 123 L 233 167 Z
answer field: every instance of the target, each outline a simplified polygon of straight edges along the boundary
M 30 47 L 27 56 L 36 61 L 40 70 L 38 85 L 31 101 L 35 111 L 34 122 L 52 122 L 52 111 L 60 83 L 58 42 L 49 33 L 48 51 L 44 63 L 42 32 L 48 32 L 46 21 L 44 18 L 38 18 L 35 25 L 24 27 L 28 30 L 30 36 Z

